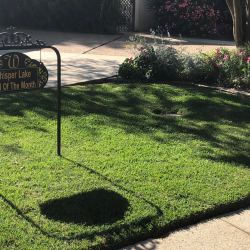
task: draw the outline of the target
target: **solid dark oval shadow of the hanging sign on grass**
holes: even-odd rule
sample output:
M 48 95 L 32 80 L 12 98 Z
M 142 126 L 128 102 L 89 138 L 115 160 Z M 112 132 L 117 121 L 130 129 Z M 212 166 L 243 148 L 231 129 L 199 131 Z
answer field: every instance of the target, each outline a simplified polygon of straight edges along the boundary
M 40 211 L 47 219 L 87 226 L 112 224 L 124 218 L 129 202 L 120 194 L 96 189 L 46 201 Z

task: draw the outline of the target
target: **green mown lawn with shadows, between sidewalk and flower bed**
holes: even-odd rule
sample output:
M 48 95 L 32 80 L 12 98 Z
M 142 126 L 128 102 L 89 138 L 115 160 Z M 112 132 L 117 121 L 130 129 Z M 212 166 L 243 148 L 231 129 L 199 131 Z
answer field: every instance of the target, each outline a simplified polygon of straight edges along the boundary
M 118 249 L 250 204 L 248 98 L 63 88 L 58 157 L 56 95 L 0 96 L 0 249 Z

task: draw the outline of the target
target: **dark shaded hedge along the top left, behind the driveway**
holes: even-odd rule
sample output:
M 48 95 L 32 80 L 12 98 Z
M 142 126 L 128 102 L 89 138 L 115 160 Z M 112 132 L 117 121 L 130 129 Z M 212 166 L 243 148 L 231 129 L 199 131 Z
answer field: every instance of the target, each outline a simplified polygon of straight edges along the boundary
M 113 0 L 0 0 L 0 6 L 2 27 L 114 33 L 119 22 Z

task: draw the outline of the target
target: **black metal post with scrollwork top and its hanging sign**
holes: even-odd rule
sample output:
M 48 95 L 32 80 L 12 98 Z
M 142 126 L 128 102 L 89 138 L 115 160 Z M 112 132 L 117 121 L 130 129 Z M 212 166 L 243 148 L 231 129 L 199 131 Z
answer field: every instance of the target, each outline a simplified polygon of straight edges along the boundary
M 0 33 L 1 50 L 37 50 L 52 49 L 57 56 L 57 154 L 61 156 L 61 56 L 52 46 L 47 46 L 41 40 L 33 43 L 31 36 L 23 32 Z M 43 88 L 48 81 L 48 71 L 45 66 L 25 54 L 10 52 L 0 57 L 0 93 L 13 93 Z

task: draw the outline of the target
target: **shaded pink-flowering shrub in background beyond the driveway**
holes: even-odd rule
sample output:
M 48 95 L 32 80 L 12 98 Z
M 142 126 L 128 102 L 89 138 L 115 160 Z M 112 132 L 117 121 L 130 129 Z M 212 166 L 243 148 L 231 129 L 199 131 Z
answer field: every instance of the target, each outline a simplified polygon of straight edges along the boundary
M 231 26 L 219 22 L 220 11 L 214 8 L 215 4 L 200 6 L 192 0 L 171 0 L 160 7 L 153 6 L 153 12 L 163 30 L 172 34 L 205 37 L 231 33 Z

